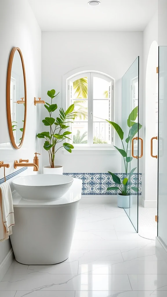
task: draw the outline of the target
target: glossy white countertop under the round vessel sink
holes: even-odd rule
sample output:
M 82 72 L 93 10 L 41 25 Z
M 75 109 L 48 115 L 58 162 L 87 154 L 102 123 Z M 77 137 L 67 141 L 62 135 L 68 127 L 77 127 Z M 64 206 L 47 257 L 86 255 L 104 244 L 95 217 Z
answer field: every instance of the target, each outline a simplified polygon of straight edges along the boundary
M 59 207 L 70 203 L 75 203 L 81 199 L 82 180 L 74 178 L 73 184 L 68 192 L 60 199 L 54 201 L 28 201 L 21 198 L 16 192 L 12 192 L 13 207 Z

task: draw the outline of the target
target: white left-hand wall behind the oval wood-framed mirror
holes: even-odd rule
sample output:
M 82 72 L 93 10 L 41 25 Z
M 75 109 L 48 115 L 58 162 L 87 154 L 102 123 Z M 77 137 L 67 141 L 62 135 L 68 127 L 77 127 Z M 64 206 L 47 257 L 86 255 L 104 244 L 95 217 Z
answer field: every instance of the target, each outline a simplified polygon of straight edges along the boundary
M 15 171 L 14 160 L 29 159 L 39 150 L 36 132 L 39 122 L 39 106 L 34 106 L 34 97 L 41 97 L 41 30 L 27 0 L 0 1 L 0 143 L 10 141 L 6 115 L 6 78 L 10 51 L 19 47 L 23 54 L 27 82 L 27 124 L 23 146 L 19 150 L 0 149 L 0 160 L 9 163 L 6 175 Z M 4 145 L 5 146 L 5 145 Z M 19 168 L 18 168 L 19 169 Z M 24 174 L 33 172 L 33 168 Z M 3 169 L 0 169 L 0 178 Z M 9 181 L 11 184 L 11 180 Z M 0 265 L 10 250 L 10 240 L 0 243 Z

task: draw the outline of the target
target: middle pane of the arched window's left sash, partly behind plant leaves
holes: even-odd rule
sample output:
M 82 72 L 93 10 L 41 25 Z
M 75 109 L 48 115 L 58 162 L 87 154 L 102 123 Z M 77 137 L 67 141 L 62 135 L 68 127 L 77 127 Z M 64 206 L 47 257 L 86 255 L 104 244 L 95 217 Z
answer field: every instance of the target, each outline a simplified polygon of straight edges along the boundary
M 88 121 L 88 100 L 72 100 L 71 104 L 75 105 L 75 111 L 78 112 L 74 121 Z

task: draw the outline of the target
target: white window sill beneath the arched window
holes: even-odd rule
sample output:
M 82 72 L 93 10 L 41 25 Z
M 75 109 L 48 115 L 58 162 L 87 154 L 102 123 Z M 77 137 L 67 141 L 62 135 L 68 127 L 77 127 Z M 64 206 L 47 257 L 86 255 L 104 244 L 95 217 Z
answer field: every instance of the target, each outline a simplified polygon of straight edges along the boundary
M 69 155 L 69 152 L 62 149 L 64 155 Z M 72 149 L 73 155 L 117 155 L 119 152 L 114 148 L 75 148 Z

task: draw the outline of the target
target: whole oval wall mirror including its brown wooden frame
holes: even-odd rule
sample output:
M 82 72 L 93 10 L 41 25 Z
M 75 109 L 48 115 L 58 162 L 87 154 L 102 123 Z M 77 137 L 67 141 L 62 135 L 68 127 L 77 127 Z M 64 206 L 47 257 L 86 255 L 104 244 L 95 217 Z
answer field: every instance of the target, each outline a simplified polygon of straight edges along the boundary
M 7 70 L 7 121 L 12 146 L 20 149 L 26 128 L 26 74 L 20 48 L 12 48 Z

